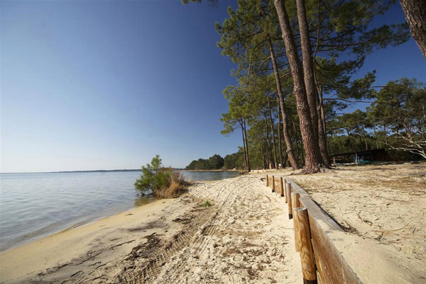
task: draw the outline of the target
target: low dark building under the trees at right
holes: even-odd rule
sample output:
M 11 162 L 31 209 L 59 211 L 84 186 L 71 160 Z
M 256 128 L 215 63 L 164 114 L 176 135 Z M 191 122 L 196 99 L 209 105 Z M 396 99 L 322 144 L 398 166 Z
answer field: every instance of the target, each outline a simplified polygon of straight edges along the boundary
M 389 161 L 390 157 L 386 149 L 371 149 L 342 154 L 332 154 L 333 164 L 356 163 L 370 164 L 373 161 Z

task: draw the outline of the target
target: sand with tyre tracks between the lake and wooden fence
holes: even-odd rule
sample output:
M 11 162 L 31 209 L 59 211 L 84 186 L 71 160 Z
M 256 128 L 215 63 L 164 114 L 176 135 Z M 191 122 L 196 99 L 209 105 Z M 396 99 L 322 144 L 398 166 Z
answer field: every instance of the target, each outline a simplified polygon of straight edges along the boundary
M 263 176 L 197 182 L 180 198 L 4 251 L 1 281 L 302 283 L 293 221 Z

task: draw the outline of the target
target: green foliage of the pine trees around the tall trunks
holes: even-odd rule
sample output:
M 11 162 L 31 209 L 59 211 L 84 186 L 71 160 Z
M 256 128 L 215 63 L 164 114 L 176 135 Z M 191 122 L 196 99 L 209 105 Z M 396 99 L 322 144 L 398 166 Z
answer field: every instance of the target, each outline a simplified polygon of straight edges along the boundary
M 186 4 L 201 0 L 182 1 Z M 218 0 L 207 1 L 217 3 Z M 283 1 L 293 35 L 298 37 L 300 30 L 295 1 Z M 384 147 L 385 143 L 395 147 L 398 140 L 421 141 L 422 133 L 426 132 L 423 103 L 426 96 L 422 91 L 411 91 L 413 96 L 404 99 L 403 93 L 410 93 L 407 91 L 409 89 L 413 90 L 408 86 L 410 84 L 398 81 L 393 86 L 390 82 L 389 86 L 376 92 L 373 88 L 375 71 L 358 79 L 353 77 L 363 67 L 368 54 L 408 40 L 410 34 L 406 23 L 371 24 L 376 16 L 383 15 L 394 3 L 395 1 L 387 0 L 305 1 L 315 64 L 315 86 L 324 110 L 331 153 Z M 273 74 L 268 38 L 271 38 L 271 49 L 275 52 L 278 65 L 290 143 L 297 161 L 302 164 L 305 153 L 297 115 L 297 107 L 300 106 L 297 106 L 295 101 L 293 81 L 289 76 L 288 59 L 273 1 L 238 0 L 238 7 L 229 7 L 228 13 L 229 17 L 223 23 L 215 24 L 221 35 L 217 46 L 222 50 L 222 55 L 231 58 L 236 64 L 236 69 L 231 70 L 231 74 L 236 78 L 237 84 L 227 86 L 223 92 L 229 111 L 222 113 L 222 134 L 229 135 L 235 130 L 242 130 L 249 161 L 245 161 L 244 149 L 240 147 L 238 152 L 224 157 L 224 168 L 244 169 L 244 164 L 249 163 L 249 166 L 256 169 L 271 164 L 271 124 L 275 140 L 280 142 L 283 148 L 283 164 L 286 163 L 283 135 L 280 135 L 280 140 L 277 137 L 278 130 L 282 130 L 283 126 L 278 123 L 278 107 L 275 104 L 278 88 Z M 300 48 L 299 38 L 296 38 L 296 42 Z M 405 91 L 397 87 L 401 84 L 405 84 L 402 88 Z M 395 98 L 396 93 L 400 93 L 399 98 Z M 266 97 L 274 102 L 271 106 L 268 106 Z M 341 114 L 342 110 L 361 100 L 373 101 L 371 109 Z M 420 103 L 415 104 L 413 100 Z M 272 119 L 269 118 L 269 111 L 272 113 Z M 410 134 L 411 138 L 407 134 Z M 278 150 L 278 147 L 276 148 Z M 405 154 L 398 155 L 401 159 L 407 157 Z M 192 161 L 187 169 L 208 167 L 209 160 L 199 159 Z

